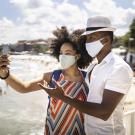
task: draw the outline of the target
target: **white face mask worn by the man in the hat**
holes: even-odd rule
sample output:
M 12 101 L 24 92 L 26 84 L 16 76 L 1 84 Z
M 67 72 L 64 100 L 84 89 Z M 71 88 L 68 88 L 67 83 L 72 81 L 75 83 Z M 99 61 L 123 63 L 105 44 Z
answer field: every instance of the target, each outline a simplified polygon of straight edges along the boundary
M 90 43 L 85 43 L 86 50 L 91 57 L 95 57 L 104 47 L 103 44 L 101 43 L 102 39 Z

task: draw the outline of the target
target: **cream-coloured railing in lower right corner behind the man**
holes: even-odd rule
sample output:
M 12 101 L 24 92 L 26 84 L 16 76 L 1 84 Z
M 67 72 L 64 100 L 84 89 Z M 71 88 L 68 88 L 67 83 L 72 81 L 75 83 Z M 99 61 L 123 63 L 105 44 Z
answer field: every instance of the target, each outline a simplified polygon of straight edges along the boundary
M 135 109 L 124 113 L 127 135 L 135 135 Z

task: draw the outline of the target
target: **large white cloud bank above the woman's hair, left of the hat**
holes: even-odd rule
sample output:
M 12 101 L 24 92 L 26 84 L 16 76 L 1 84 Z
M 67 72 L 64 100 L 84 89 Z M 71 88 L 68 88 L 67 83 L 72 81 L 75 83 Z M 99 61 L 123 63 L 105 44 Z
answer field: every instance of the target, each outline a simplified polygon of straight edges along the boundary
M 86 11 L 67 2 L 60 4 L 51 0 L 11 0 L 12 4 L 20 8 L 23 18 L 18 18 L 17 25 L 14 24 L 14 30 L 9 29 L 15 37 L 13 38 L 10 32 L 7 33 L 8 37 L 11 36 L 12 41 L 48 38 L 52 36 L 51 32 L 56 29 L 56 26 L 65 25 L 69 29 L 84 26 L 87 18 Z M 8 42 L 11 41 L 9 39 L 7 39 Z

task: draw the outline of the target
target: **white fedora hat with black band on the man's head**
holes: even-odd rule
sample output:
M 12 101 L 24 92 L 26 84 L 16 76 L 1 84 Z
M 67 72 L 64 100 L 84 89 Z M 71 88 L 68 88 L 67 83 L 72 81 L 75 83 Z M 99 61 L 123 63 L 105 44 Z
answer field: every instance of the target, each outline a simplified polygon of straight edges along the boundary
M 98 31 L 115 31 L 116 28 L 111 26 L 111 22 L 107 17 L 96 16 L 88 18 L 86 31 L 82 35 L 92 34 Z

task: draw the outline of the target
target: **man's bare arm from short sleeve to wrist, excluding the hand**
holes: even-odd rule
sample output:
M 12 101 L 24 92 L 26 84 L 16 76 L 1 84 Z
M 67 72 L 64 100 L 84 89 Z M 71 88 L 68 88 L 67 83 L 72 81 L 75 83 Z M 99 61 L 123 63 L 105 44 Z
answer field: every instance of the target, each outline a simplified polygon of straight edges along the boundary
M 68 96 L 62 96 L 61 100 L 75 107 L 79 111 L 88 115 L 107 120 L 116 108 L 124 94 L 113 92 L 110 90 L 104 90 L 103 100 L 101 104 L 82 102 L 77 99 L 72 99 Z

